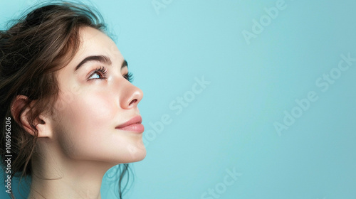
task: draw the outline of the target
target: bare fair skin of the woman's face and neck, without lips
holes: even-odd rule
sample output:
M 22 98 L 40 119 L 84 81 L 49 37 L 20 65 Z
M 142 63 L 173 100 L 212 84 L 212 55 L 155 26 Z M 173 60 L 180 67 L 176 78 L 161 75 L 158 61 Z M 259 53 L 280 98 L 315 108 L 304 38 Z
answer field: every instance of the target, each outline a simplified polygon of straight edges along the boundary
M 140 115 L 142 90 L 125 78 L 125 60 L 105 33 L 83 27 L 80 38 L 78 53 L 58 71 L 53 114 L 42 114 L 36 126 L 40 138 L 28 198 L 101 198 L 109 168 L 146 156 L 142 132 L 115 129 Z M 88 57 L 95 58 L 83 63 Z M 26 117 L 21 120 L 33 134 Z

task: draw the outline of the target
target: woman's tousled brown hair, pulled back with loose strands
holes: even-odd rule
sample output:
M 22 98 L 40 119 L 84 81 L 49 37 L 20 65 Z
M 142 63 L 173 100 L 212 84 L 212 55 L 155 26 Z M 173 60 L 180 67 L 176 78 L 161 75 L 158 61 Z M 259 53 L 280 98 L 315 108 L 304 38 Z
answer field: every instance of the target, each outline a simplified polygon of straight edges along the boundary
M 21 178 L 31 176 L 31 156 L 38 138 L 37 118 L 39 114 L 52 114 L 59 90 L 56 71 L 67 65 L 78 50 L 80 27 L 105 31 L 100 14 L 88 6 L 58 1 L 31 10 L 8 30 L 0 31 L 0 154 L 6 168 L 6 139 L 11 136 L 11 179 L 15 174 Z M 12 115 L 11 105 L 18 95 L 27 97 L 26 104 Z M 20 116 L 26 109 L 34 136 L 21 124 Z M 11 128 L 6 121 L 11 121 Z M 119 187 L 126 171 L 127 164 Z

